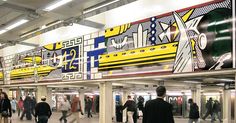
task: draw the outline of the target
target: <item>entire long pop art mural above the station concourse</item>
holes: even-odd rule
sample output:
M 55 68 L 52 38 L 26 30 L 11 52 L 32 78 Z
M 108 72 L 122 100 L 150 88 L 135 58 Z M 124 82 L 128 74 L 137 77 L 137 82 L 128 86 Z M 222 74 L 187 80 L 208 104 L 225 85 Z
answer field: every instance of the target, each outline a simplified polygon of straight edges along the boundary
M 11 82 L 232 68 L 231 7 L 218 0 L 123 24 L 8 56 L 2 66 Z

